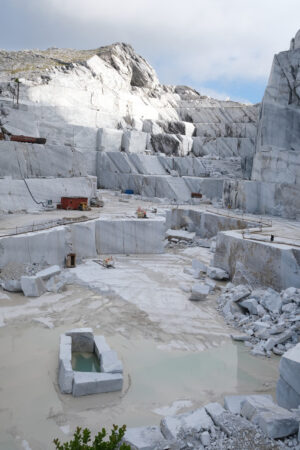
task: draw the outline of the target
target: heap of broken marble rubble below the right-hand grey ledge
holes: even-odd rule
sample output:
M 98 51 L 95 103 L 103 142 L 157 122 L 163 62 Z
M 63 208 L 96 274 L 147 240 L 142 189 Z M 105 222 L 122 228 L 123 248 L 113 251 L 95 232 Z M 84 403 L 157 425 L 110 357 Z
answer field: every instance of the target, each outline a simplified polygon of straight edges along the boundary
M 253 355 L 282 355 L 299 342 L 300 289 L 278 293 L 229 283 L 218 298 L 218 309 L 243 332 L 232 338 L 245 342 Z

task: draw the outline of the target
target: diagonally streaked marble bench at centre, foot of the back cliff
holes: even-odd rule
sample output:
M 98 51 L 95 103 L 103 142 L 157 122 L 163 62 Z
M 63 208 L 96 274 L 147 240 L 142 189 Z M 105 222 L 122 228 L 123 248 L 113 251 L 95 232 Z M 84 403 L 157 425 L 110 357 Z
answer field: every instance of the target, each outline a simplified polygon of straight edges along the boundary
M 236 170 L 232 163 L 227 168 L 229 172 Z M 192 192 L 201 193 L 208 199 L 222 198 L 223 178 L 209 175 L 207 164 L 198 158 L 99 152 L 97 160 L 99 187 L 130 189 L 144 197 L 168 198 L 183 203 L 191 202 Z

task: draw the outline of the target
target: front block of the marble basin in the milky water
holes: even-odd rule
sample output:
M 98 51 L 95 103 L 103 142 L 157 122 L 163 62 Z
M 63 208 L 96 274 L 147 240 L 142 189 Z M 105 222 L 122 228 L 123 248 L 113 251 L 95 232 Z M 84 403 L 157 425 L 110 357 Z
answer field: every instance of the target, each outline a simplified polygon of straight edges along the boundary
M 123 375 L 119 373 L 73 372 L 73 396 L 121 391 Z

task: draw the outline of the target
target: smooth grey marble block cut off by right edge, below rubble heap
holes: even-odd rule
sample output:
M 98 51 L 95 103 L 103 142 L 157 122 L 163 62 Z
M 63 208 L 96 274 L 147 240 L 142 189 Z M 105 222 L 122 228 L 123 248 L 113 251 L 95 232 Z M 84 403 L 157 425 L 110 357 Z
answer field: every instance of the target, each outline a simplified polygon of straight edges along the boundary
M 281 357 L 280 377 L 276 388 L 277 402 L 286 409 L 300 406 L 300 344 Z

